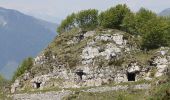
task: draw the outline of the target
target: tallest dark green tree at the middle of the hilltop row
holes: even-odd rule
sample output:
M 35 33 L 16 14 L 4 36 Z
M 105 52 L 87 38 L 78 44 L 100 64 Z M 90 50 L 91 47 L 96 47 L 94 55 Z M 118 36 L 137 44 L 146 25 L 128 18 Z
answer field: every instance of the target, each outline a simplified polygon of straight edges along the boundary
M 99 23 L 103 28 L 121 28 L 125 16 L 130 13 L 130 9 L 124 5 L 117 5 L 99 15 Z

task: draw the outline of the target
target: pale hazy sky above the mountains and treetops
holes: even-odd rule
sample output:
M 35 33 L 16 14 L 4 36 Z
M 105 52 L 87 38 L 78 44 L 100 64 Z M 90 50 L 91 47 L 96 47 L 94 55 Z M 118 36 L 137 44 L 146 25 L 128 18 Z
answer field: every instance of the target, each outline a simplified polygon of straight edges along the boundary
M 61 20 L 74 11 L 88 8 L 105 10 L 117 4 L 127 4 L 133 11 L 145 7 L 157 13 L 170 8 L 170 0 L 0 0 L 0 7 L 50 21 Z

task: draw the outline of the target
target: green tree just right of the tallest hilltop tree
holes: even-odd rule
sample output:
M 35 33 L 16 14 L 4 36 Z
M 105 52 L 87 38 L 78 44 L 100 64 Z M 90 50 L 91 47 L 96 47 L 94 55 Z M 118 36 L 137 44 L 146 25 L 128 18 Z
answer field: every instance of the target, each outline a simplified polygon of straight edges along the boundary
M 145 34 L 145 28 L 149 29 L 145 27 L 146 24 L 148 21 L 155 19 L 156 17 L 156 14 L 152 11 L 141 8 L 136 14 L 128 13 L 125 16 L 122 28 L 133 35 Z

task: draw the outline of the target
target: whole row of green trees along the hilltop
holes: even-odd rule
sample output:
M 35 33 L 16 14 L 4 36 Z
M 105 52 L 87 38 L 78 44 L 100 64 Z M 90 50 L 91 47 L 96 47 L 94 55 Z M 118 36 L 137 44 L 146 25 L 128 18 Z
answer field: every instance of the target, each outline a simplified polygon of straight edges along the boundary
M 74 28 L 83 31 L 119 29 L 136 37 L 141 36 L 141 48 L 147 50 L 170 45 L 170 19 L 159 17 L 145 8 L 137 13 L 126 5 L 117 5 L 101 13 L 95 9 L 83 10 L 67 16 L 57 31 L 63 34 Z

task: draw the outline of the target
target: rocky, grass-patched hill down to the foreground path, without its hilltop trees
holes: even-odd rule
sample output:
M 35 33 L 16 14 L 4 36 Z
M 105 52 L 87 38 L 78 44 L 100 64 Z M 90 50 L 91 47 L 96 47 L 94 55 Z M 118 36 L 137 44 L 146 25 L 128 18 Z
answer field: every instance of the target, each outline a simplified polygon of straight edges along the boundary
M 12 98 L 150 98 L 169 86 L 170 48 L 141 51 L 138 38 L 115 29 L 62 33 L 15 80 Z

